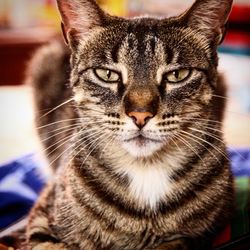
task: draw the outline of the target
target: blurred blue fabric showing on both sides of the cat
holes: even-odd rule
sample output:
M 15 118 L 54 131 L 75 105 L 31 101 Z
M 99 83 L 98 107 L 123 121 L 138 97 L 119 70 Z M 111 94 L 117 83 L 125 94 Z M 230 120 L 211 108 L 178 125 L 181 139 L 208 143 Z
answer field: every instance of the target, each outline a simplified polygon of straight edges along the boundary
M 235 176 L 250 176 L 250 149 L 230 149 Z M 0 230 L 25 216 L 45 181 L 33 155 L 0 166 Z

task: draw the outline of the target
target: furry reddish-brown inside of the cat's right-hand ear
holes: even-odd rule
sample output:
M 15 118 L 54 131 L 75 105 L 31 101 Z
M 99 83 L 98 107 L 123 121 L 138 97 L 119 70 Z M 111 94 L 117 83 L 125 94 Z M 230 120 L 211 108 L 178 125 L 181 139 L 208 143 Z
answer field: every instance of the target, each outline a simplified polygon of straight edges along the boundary
M 224 38 L 232 2 L 233 0 L 196 0 L 182 17 L 192 29 L 220 44 Z

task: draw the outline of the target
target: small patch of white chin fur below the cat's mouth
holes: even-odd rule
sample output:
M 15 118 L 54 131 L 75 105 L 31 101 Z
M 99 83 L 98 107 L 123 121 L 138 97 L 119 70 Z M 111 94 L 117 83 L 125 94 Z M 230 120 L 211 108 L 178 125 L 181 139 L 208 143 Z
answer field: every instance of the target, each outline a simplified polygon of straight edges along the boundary
M 123 142 L 122 147 L 134 157 L 149 157 L 158 151 L 162 144 L 153 141 L 138 143 L 135 140 Z

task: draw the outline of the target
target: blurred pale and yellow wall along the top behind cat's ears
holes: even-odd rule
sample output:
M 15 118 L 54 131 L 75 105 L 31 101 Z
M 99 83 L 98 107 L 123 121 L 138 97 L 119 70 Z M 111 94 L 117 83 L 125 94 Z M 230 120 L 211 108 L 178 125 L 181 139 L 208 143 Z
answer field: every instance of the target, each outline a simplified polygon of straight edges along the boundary
M 97 0 L 97 2 L 110 14 L 131 16 L 152 13 L 171 16 L 188 8 L 194 0 Z M 250 0 L 234 0 L 234 3 L 250 6 Z M 59 21 L 56 0 L 0 1 L 0 28 L 58 27 Z

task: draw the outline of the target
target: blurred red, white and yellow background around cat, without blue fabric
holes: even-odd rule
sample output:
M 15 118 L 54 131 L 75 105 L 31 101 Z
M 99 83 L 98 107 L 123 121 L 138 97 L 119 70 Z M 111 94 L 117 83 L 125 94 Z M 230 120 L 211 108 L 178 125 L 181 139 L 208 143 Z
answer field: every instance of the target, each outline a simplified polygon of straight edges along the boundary
M 193 0 L 99 0 L 121 16 L 181 13 Z M 204 10 L 205 11 L 205 10 Z M 0 0 L 0 164 L 37 152 L 31 89 L 25 69 L 34 51 L 60 35 L 55 0 Z M 225 138 L 230 147 L 250 148 L 250 0 L 235 0 L 220 52 L 229 87 Z

